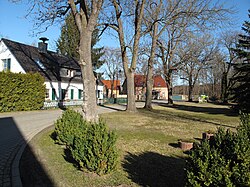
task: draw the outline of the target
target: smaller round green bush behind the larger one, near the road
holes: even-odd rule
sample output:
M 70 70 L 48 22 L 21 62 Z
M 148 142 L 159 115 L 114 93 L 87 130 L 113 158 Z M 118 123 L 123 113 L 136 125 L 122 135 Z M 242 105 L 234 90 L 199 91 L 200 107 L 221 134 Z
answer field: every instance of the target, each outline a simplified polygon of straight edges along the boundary
M 87 124 L 82 115 L 72 109 L 63 112 L 55 122 L 55 142 L 70 146 L 76 136 L 86 134 Z

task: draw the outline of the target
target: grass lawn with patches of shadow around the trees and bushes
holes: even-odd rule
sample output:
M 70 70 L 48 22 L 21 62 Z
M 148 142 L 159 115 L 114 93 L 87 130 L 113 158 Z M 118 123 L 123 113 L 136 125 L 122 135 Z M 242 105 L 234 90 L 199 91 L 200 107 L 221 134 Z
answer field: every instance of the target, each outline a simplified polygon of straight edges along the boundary
M 22 156 L 24 186 L 183 186 L 187 154 L 178 148 L 178 139 L 199 141 L 206 130 L 234 130 L 239 123 L 227 106 L 185 102 L 101 117 L 118 134 L 121 161 L 115 172 L 97 176 L 78 170 L 64 147 L 54 144 L 51 127 L 36 136 Z

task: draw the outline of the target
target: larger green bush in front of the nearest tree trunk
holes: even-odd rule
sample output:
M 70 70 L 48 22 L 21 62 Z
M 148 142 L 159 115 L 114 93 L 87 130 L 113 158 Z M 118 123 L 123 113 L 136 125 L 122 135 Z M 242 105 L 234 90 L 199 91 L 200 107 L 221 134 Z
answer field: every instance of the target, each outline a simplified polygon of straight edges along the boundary
M 72 157 L 82 169 L 99 175 L 110 173 L 118 160 L 116 140 L 104 122 L 90 123 L 86 134 L 75 137 L 70 147 Z

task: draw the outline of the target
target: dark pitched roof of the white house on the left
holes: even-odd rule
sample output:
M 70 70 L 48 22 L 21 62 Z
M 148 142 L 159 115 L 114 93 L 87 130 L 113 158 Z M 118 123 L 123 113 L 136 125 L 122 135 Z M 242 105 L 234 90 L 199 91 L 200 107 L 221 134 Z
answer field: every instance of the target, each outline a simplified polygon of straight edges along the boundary
M 80 71 L 80 67 L 75 59 L 49 50 L 46 53 L 41 53 L 37 47 L 5 38 L 2 38 L 2 41 L 25 72 L 39 72 L 48 81 L 82 82 L 80 76 L 70 78 L 61 75 L 63 68 Z

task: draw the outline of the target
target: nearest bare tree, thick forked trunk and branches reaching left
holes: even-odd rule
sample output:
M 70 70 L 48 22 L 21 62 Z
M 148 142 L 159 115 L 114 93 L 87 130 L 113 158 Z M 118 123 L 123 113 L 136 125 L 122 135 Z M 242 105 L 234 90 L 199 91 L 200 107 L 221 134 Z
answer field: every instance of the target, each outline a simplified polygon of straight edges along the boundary
M 34 15 L 36 26 L 44 26 L 45 30 L 56 21 L 61 21 L 69 11 L 72 12 L 80 34 L 79 66 L 83 81 L 84 118 L 88 121 L 98 120 L 95 96 L 95 76 L 91 60 L 91 39 L 96 27 L 104 0 L 32 0 L 28 15 Z

